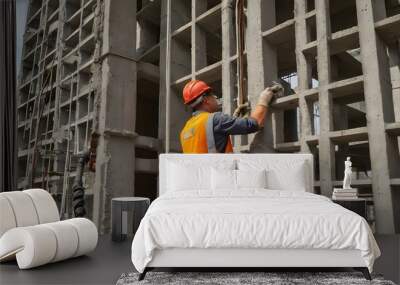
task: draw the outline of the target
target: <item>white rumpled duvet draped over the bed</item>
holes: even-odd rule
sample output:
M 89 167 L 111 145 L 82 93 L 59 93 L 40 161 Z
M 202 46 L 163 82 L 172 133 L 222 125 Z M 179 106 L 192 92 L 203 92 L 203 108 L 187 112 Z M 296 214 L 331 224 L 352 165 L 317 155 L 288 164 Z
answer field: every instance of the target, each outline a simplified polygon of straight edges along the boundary
M 162 195 L 140 223 L 132 262 L 143 272 L 167 248 L 356 249 L 370 271 L 380 255 L 359 215 L 320 195 L 266 189 Z

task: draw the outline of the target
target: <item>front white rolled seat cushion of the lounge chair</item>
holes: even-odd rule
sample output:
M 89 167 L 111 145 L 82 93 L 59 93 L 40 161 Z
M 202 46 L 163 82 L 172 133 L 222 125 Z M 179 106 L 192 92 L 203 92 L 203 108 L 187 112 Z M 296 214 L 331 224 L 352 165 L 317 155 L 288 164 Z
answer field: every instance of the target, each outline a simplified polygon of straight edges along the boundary
M 16 257 L 20 269 L 86 254 L 97 245 L 97 228 L 75 218 L 30 227 L 17 227 L 0 238 L 0 261 Z

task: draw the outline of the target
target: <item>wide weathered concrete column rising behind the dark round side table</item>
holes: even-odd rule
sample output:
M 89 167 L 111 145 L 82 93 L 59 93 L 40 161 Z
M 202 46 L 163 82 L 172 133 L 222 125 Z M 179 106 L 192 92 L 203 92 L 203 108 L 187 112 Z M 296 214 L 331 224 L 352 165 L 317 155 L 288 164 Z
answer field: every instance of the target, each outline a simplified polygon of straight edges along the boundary
M 112 3 L 111 3 L 112 2 Z M 134 195 L 136 1 L 104 1 L 93 218 L 110 231 L 111 199 Z M 122 167 L 121 167 L 122 166 Z

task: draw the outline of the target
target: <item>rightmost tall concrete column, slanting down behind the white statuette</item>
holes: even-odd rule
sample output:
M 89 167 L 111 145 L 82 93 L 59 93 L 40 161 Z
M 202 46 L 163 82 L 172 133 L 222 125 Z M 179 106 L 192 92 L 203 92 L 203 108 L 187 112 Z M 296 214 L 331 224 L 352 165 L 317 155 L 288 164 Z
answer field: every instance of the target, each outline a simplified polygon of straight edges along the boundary
M 395 220 L 390 170 L 398 169 L 395 165 L 399 162 L 395 161 L 398 158 L 397 142 L 395 145 L 395 140 L 390 140 L 385 132 L 385 122 L 394 120 L 389 64 L 386 46 L 375 32 L 372 1 L 357 0 L 356 3 L 376 227 L 378 233 L 392 234 L 395 232 Z M 399 221 L 397 223 L 400 224 Z

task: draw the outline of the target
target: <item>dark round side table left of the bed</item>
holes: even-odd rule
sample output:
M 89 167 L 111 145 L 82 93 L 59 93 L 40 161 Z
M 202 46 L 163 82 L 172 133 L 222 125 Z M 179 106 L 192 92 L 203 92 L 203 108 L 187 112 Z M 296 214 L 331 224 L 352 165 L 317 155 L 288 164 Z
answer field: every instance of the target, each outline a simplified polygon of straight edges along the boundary
M 150 199 L 143 197 L 119 197 L 111 200 L 111 237 L 113 241 L 123 241 L 129 228 L 135 235 L 140 221 L 150 206 Z M 132 212 L 132 221 L 128 222 L 128 212 Z M 129 227 L 131 225 L 131 227 Z

